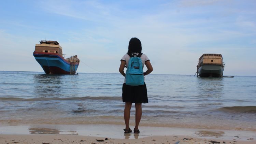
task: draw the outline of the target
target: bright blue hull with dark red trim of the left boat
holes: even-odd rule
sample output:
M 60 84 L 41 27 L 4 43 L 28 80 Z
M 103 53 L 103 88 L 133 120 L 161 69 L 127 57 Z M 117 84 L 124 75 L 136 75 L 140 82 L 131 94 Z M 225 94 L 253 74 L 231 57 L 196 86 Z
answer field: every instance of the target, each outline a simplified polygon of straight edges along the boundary
M 33 53 L 46 74 L 71 74 L 70 62 L 55 53 Z M 79 63 L 75 63 L 75 72 Z

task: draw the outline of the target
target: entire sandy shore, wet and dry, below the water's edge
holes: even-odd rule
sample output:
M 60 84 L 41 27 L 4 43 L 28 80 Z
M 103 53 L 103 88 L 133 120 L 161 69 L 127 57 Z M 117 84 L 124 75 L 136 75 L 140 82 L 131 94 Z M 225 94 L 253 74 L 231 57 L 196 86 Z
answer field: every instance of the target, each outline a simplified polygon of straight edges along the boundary
M 256 143 L 255 131 L 140 126 L 124 134 L 123 125 L 0 126 L 0 143 Z M 133 126 L 130 126 L 133 129 Z M 105 140 L 97 142 L 96 139 Z M 184 139 L 185 138 L 185 139 Z M 81 141 L 82 140 L 82 141 Z M 155 141 L 154 141 L 155 140 Z

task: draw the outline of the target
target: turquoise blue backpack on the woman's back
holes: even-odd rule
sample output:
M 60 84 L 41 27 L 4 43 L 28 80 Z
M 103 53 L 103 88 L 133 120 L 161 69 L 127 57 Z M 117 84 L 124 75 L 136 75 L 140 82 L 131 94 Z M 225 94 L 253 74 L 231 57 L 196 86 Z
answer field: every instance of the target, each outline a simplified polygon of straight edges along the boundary
M 131 58 L 126 69 L 125 84 L 130 86 L 144 85 L 144 75 L 140 53 L 137 57 L 128 54 Z

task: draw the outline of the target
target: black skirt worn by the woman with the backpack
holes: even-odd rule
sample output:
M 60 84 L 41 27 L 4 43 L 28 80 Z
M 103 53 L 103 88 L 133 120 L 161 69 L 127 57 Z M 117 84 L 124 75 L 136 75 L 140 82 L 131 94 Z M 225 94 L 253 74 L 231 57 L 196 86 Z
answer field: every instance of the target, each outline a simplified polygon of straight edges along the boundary
M 123 84 L 123 102 L 148 103 L 146 84 L 140 86 L 129 86 Z

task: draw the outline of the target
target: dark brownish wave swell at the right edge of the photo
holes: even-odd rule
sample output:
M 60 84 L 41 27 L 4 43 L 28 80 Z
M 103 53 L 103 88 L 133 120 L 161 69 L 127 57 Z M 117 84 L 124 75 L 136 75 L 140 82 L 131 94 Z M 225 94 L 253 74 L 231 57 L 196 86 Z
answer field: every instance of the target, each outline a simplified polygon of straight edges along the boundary
M 221 107 L 217 110 L 230 113 L 256 113 L 256 106 L 230 106 Z

